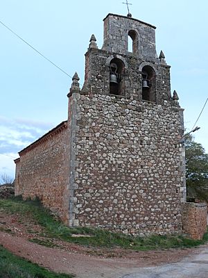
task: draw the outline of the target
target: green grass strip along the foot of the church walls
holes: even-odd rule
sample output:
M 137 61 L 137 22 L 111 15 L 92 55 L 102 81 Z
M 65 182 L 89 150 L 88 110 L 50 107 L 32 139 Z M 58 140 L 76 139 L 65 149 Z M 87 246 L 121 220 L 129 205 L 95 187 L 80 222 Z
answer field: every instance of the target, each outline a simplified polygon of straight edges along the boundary
M 46 208 L 38 201 L 23 201 L 22 199 L 2 199 L 0 208 L 8 213 L 18 213 L 20 220 L 33 219 L 43 229 L 41 236 L 45 238 L 57 238 L 71 243 L 94 247 L 123 247 L 131 250 L 154 250 L 181 247 L 195 247 L 208 241 L 208 234 L 202 240 L 192 240 L 185 236 L 128 236 L 116 234 L 103 229 L 90 227 L 69 228 L 55 220 Z M 73 237 L 73 234 L 82 234 Z M 37 235 L 36 235 L 37 236 Z M 88 237 L 87 237 L 88 236 Z M 53 245 L 50 240 L 35 239 L 43 245 Z

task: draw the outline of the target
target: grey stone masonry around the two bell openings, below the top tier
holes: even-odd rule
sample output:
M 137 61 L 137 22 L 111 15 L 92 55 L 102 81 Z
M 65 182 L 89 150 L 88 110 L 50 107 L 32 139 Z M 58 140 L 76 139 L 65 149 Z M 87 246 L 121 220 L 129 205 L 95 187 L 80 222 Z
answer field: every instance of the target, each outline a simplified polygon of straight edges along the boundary
M 154 68 L 156 74 L 156 102 L 164 104 L 171 101 L 170 66 L 157 63 L 144 63 L 144 60 L 135 56 L 119 56 L 125 63 L 125 74 L 123 76 L 124 89 L 123 97 L 141 100 L 142 76 L 141 70 L 144 65 Z M 85 54 L 85 92 L 109 95 L 110 92 L 110 60 L 114 58 L 109 52 L 100 49 L 89 49 Z M 175 104 L 178 106 L 178 104 Z

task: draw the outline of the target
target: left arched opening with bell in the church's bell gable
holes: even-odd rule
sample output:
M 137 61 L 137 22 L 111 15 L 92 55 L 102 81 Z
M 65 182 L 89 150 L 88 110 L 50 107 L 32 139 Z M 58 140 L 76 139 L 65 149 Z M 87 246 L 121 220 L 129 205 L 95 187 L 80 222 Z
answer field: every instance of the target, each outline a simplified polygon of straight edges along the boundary
M 125 65 L 119 58 L 110 61 L 110 94 L 124 95 L 124 71 Z

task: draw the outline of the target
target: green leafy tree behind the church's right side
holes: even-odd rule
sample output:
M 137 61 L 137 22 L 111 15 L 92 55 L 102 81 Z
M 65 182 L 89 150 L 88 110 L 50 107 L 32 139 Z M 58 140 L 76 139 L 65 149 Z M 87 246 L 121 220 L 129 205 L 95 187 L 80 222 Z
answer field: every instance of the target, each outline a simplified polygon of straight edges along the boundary
M 185 137 L 187 201 L 208 202 L 208 154 L 190 134 Z

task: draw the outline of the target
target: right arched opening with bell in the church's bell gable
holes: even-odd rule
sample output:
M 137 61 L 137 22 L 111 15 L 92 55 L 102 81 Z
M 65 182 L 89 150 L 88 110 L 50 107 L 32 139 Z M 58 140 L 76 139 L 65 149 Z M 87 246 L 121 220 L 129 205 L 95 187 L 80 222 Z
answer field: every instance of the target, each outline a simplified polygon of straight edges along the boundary
M 156 79 L 155 70 L 145 65 L 141 71 L 142 75 L 142 100 L 156 102 Z

